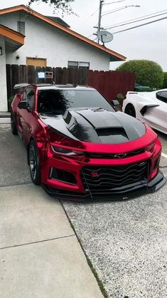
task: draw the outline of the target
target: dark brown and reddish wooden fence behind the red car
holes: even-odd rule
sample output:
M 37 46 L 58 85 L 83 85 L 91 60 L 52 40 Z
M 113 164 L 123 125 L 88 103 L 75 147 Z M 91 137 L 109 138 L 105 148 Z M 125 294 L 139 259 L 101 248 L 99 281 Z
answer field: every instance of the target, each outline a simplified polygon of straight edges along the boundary
M 52 71 L 53 78 L 39 79 L 38 72 Z M 16 83 L 72 83 L 87 85 L 96 88 L 109 101 L 117 97 L 118 93 L 124 96 L 127 91 L 134 90 L 134 73 L 119 71 L 90 71 L 85 68 L 51 68 L 26 65 L 6 64 L 7 96 L 13 95 Z

